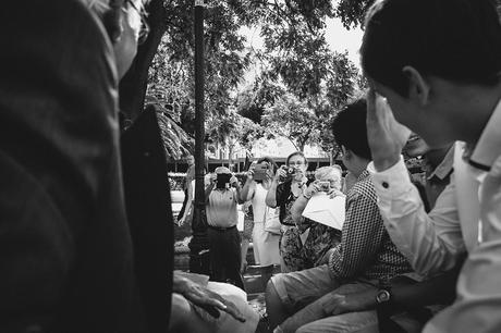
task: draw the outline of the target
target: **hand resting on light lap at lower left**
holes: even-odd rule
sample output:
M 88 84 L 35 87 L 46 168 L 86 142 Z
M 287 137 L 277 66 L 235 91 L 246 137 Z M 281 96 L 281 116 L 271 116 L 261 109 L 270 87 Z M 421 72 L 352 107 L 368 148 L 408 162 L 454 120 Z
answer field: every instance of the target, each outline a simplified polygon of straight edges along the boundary
M 194 305 L 203 308 L 215 318 L 221 314 L 219 310 L 224 311 L 232 316 L 234 319 L 245 322 L 245 318 L 236 306 L 219 294 L 213 293 L 206 287 L 185 278 L 176 276 L 174 272 L 173 291 L 183 295 L 187 300 Z

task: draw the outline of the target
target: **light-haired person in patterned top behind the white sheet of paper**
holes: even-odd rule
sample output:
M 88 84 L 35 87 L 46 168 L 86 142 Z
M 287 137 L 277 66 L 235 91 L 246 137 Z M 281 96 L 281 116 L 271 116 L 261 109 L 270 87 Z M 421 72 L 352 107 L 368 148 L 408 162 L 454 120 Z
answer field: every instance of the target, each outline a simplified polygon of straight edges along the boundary
M 297 198 L 291 208 L 292 219 L 300 227 L 306 229 L 308 236 L 301 249 L 300 259 L 303 261 L 302 269 L 313 268 L 322 262 L 323 257 L 329 249 L 333 248 L 341 242 L 341 230 L 321 224 L 318 221 L 310 220 L 302 215 L 311 196 L 316 194 L 331 195 L 337 192 L 337 195 L 344 196 L 341 190 L 342 172 L 339 166 L 322 166 L 315 171 L 315 182 L 309 184 L 305 189 L 304 195 Z M 320 182 L 325 182 L 321 184 Z M 328 185 L 327 188 L 322 185 Z M 331 197 L 330 200 L 338 198 Z M 334 205 L 333 202 L 327 205 Z M 344 217 L 344 206 L 342 207 Z

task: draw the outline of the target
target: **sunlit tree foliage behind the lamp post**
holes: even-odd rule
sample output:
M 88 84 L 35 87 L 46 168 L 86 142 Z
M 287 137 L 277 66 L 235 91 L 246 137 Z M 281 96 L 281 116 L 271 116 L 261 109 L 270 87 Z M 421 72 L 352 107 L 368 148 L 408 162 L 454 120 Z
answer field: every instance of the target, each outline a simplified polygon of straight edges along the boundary
M 245 128 L 239 134 L 247 134 L 245 137 L 240 135 L 237 140 L 249 146 L 252 140 L 270 134 L 260 127 L 265 112 L 282 112 L 285 107 L 293 107 L 307 111 L 303 120 L 307 119 L 306 114 L 314 115 L 316 126 L 308 120 L 314 126 L 311 137 L 322 146 L 329 146 L 328 141 L 323 145 L 328 137 L 322 135 L 326 124 L 354 95 L 359 75 L 345 53 L 329 49 L 323 32 L 326 20 L 339 15 L 347 26 L 357 24 L 368 2 L 341 0 L 335 7 L 335 2 L 320 0 L 206 1 L 205 108 L 210 136 L 224 141 L 229 138 L 224 135 L 231 136 L 232 132 L 222 130 L 229 128 L 227 125 L 231 122 L 237 122 Z M 190 148 L 192 141 L 190 136 L 194 133 L 195 115 L 193 7 L 194 1 L 151 0 L 150 9 L 158 11 L 162 8 L 163 11 L 152 12 L 148 18 L 155 38 L 139 49 L 139 55 L 145 55 L 136 60 L 146 62 L 148 54 L 155 54 L 150 57 L 152 61 L 149 59 L 147 96 L 170 106 L 169 119 L 188 135 L 186 140 L 172 144 L 185 148 Z M 244 26 L 259 28 L 262 50 L 246 48 L 241 30 Z M 261 72 L 254 83 L 236 94 L 250 65 L 259 65 Z M 144 71 L 144 66 L 136 63 L 134 71 Z M 144 95 L 132 92 L 134 87 L 143 87 L 143 77 L 133 74 L 127 74 L 130 77 L 123 84 L 130 87 L 122 103 L 125 111 L 137 109 L 144 98 Z M 285 95 L 291 98 L 292 106 L 284 101 Z M 133 103 L 133 100 L 136 101 Z M 127 103 L 133 107 L 127 109 Z M 266 124 L 270 125 L 272 119 L 277 118 L 268 114 Z M 221 130 L 221 134 L 216 135 L 210 131 L 212 128 Z M 280 127 L 273 125 L 270 128 Z M 297 135 L 293 139 L 301 146 L 304 140 Z

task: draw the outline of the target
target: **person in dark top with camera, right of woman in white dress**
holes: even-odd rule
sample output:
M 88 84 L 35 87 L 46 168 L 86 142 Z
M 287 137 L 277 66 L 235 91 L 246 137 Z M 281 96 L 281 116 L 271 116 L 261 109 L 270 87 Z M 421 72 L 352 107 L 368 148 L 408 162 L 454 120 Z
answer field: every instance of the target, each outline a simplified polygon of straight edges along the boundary
M 291 153 L 285 163 L 286 168 L 277 170 L 266 196 L 267 206 L 280 208 L 282 229 L 279 248 L 282 273 L 296 271 L 302 267 L 302 260 L 298 258 L 303 245 L 300 238 L 300 230 L 292 219 L 291 207 L 306 189 L 306 170 L 308 169 L 308 161 L 301 151 Z

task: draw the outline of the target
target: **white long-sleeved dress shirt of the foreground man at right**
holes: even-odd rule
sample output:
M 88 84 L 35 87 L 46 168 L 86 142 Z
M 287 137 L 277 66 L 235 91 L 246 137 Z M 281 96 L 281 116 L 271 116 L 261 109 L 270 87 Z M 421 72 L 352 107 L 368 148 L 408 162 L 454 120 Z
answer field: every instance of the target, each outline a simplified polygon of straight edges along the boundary
M 402 159 L 382 172 L 368 166 L 388 233 L 417 272 L 429 276 L 445 271 L 468 252 L 455 303 L 424 332 L 501 332 L 500 128 L 498 103 L 469 164 L 462 157 L 464 144 L 456 143 L 451 184 L 429 214 Z

